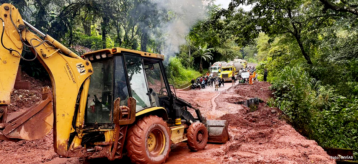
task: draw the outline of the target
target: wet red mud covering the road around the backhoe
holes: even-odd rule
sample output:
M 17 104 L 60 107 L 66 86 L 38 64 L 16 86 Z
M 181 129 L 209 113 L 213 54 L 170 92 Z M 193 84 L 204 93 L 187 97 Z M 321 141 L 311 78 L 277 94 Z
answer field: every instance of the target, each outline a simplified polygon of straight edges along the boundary
M 231 83 L 226 84 L 231 86 Z M 260 103 L 256 111 L 250 112 L 249 108 L 234 103 L 251 97 L 266 101 L 271 96 L 269 86 L 266 82 L 256 82 L 253 86 L 241 84 L 227 90 L 219 88 L 218 92 L 176 91 L 179 97 L 200 108 L 208 119 L 228 120 L 230 140 L 226 144 L 208 144 L 198 152 L 189 151 L 186 143 L 173 144 L 166 164 L 334 164 L 335 161 L 315 141 L 305 139 L 283 119 L 280 120 L 283 115 L 279 110 Z M 31 100 L 38 97 L 38 92 L 37 89 L 17 91 L 21 98 Z M 13 93 L 13 96 L 19 97 L 19 94 Z M 28 103 L 14 103 L 9 117 L 19 115 L 22 112 L 19 108 L 32 105 L 29 100 Z M 128 158 L 115 161 L 59 158 L 54 153 L 52 137 L 50 132 L 39 140 L 1 142 L 0 164 L 130 163 Z

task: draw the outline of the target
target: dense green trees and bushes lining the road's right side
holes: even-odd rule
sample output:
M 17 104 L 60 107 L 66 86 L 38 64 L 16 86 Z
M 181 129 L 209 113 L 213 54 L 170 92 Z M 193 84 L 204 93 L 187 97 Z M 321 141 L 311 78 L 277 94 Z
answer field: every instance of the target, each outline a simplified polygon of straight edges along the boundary
M 242 12 L 236 7 L 242 3 L 254 7 Z M 358 1 L 330 4 L 348 7 Z M 233 0 L 231 7 L 234 14 L 256 20 L 255 28 L 238 36 L 246 38 L 239 42 L 247 45 L 245 54 L 257 51 L 258 73 L 268 70 L 275 96 L 268 105 L 279 107 L 301 134 L 321 146 L 357 151 L 358 16 L 311 0 Z

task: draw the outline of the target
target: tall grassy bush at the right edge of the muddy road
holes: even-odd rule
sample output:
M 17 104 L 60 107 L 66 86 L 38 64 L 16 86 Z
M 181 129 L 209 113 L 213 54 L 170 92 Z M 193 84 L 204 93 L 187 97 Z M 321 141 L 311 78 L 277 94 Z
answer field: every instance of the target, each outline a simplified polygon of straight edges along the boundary
M 301 66 L 285 67 L 272 81 L 273 93 L 278 106 L 289 117 L 291 123 L 303 134 L 308 135 L 315 89 L 319 82 L 311 78 Z

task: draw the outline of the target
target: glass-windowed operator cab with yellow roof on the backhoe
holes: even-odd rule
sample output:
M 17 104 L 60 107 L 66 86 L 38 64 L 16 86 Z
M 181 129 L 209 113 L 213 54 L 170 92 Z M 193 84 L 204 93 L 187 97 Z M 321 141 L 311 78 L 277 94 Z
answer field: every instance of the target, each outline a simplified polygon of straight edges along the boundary
M 172 104 L 170 86 L 159 54 L 113 48 L 84 54 L 93 74 L 89 84 L 85 126 L 113 128 L 113 101 L 127 105 L 129 97 L 136 100 L 136 112 L 161 106 L 168 110 Z M 169 112 L 169 110 L 168 110 Z

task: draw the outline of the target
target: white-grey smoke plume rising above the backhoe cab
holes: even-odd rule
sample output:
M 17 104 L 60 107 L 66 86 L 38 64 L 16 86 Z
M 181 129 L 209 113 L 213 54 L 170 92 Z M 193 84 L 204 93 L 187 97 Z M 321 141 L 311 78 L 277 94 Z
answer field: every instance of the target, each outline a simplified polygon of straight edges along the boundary
M 158 26 L 163 37 L 154 35 L 156 42 L 164 41 L 162 53 L 168 59 L 179 53 L 180 45 L 186 43 L 185 36 L 190 32 L 193 25 L 206 18 L 202 0 L 153 0 L 159 10 L 169 11 L 169 21 L 161 21 Z

